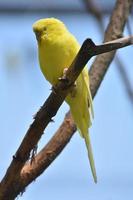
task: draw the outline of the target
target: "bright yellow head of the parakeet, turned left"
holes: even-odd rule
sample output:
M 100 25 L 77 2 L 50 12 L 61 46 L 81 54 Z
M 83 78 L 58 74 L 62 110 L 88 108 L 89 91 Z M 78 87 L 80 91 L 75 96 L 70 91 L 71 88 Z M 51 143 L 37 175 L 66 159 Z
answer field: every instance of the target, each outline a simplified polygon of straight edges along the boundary
M 45 40 L 52 36 L 60 36 L 67 31 L 63 22 L 55 18 L 40 19 L 33 24 L 33 31 L 37 41 Z

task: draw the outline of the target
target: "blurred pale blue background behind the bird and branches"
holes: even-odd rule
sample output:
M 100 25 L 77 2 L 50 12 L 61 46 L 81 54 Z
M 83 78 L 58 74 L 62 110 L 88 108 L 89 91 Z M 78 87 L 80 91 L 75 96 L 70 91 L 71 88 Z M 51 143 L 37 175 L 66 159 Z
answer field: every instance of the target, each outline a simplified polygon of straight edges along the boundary
M 0 1 L 0 178 L 9 166 L 33 116 L 50 94 L 40 72 L 32 24 L 56 17 L 82 42 L 90 37 L 100 44 L 115 0 L 95 0 L 102 23 L 84 0 Z M 93 1 L 94 2 L 94 1 Z M 130 20 L 130 19 L 129 19 Z M 130 26 L 133 21 L 130 20 Z M 129 35 L 127 27 L 124 35 Z M 130 200 L 133 196 L 133 78 L 132 47 L 118 51 L 95 97 L 95 118 L 90 129 L 98 183 L 94 184 L 84 141 L 75 134 L 50 167 L 27 189 L 21 200 L 91 199 Z M 93 59 L 89 61 L 88 68 Z M 100 66 L 99 66 L 100 67 Z M 55 123 L 39 142 L 48 142 L 69 107 L 64 103 Z

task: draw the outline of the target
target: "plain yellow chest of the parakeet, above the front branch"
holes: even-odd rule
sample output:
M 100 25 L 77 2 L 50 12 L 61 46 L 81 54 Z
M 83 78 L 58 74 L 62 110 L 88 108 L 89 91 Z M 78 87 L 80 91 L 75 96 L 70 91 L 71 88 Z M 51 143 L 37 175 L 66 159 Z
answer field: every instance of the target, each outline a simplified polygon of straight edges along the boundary
M 71 52 L 61 45 L 42 45 L 39 48 L 39 61 L 45 78 L 53 85 L 62 76 L 63 69 L 73 60 Z

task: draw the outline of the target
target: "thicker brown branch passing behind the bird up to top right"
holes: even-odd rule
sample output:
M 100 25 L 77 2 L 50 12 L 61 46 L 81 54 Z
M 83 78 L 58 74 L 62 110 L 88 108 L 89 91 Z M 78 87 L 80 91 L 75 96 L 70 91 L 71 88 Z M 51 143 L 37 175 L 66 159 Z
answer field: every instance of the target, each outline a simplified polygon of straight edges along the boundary
M 115 9 L 112 13 L 111 21 L 106 30 L 105 41 L 111 40 L 112 37 L 117 38 L 119 36 L 117 32 L 119 32 L 120 35 L 123 32 L 127 16 L 132 6 L 132 1 L 123 2 L 124 4 L 126 3 L 124 6 L 122 6 L 121 3 L 122 1 L 119 0 L 116 2 Z M 116 20 L 115 22 L 114 21 L 115 18 L 118 18 L 120 21 Z M 117 26 L 117 23 L 119 23 L 119 26 Z M 105 54 L 99 55 L 97 57 L 97 60 L 95 60 L 94 64 L 91 67 L 90 86 L 93 98 L 98 90 L 98 87 L 100 86 L 99 81 L 101 80 L 102 82 L 103 77 L 109 67 L 109 64 L 114 57 L 114 53 L 115 52 L 106 53 L 105 62 L 104 62 Z M 47 167 L 53 162 L 53 160 L 67 145 L 67 143 L 73 136 L 75 130 L 76 129 L 72 121 L 71 114 L 70 112 L 68 112 L 62 125 L 57 130 L 53 138 L 35 157 L 35 162 L 33 163 L 33 165 L 31 166 L 29 163 L 27 163 L 24 166 L 21 174 L 22 180 L 25 181 L 24 187 L 27 186 L 32 180 L 34 180 L 37 176 L 39 176 L 43 171 L 47 169 Z

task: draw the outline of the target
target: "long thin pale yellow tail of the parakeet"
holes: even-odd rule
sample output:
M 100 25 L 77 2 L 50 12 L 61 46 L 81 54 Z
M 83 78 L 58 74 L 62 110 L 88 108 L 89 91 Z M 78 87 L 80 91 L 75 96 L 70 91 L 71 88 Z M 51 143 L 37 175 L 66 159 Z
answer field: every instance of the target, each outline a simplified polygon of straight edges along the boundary
M 91 147 L 91 142 L 90 142 L 90 136 L 89 134 L 84 134 L 84 139 L 85 139 L 85 144 L 88 150 L 88 157 L 89 157 L 89 162 L 90 162 L 90 167 L 92 171 L 92 175 L 94 178 L 94 182 L 97 183 L 97 175 L 96 175 L 96 168 L 95 168 L 95 162 L 93 158 L 93 152 L 92 152 L 92 147 Z

